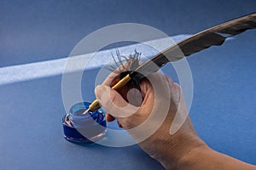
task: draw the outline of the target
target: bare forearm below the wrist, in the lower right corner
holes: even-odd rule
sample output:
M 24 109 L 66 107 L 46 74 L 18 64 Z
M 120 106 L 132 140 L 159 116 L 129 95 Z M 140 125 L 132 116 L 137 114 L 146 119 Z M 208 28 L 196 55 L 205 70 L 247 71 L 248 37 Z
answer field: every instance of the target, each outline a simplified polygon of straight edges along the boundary
M 190 150 L 177 164 L 177 170 L 256 170 L 256 167 L 233 157 L 226 156 L 207 146 Z

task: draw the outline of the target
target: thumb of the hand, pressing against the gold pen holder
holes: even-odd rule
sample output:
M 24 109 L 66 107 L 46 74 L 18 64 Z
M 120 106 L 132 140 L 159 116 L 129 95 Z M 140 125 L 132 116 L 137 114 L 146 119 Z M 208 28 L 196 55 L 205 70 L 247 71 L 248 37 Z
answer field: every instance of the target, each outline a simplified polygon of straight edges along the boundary
M 96 99 L 109 114 L 114 117 L 126 117 L 136 113 L 138 107 L 131 105 L 112 88 L 105 85 L 99 85 L 95 88 Z

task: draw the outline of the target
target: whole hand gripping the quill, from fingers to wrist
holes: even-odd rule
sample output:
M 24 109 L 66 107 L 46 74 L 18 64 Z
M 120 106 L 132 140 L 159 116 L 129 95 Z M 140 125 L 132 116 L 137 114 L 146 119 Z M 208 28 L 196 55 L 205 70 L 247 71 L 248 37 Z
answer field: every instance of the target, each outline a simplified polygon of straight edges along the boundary
M 149 156 L 176 169 L 190 150 L 206 145 L 195 133 L 177 83 L 153 73 L 140 82 L 140 90 L 133 85 L 117 92 L 109 88 L 119 81 L 117 76 L 113 72 L 96 87 L 96 98 L 108 111 L 107 121 L 117 119 Z M 171 133 L 172 126 L 180 128 Z

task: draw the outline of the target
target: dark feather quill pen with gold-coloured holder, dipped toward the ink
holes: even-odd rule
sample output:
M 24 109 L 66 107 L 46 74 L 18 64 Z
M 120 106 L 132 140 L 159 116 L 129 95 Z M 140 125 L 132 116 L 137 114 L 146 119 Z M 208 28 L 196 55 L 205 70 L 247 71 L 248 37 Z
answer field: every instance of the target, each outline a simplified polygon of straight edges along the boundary
M 227 37 L 236 36 L 243 31 L 254 28 L 256 28 L 256 13 L 247 14 L 235 20 L 230 20 L 218 26 L 213 26 L 207 30 L 198 32 L 154 55 L 152 59 L 148 59 L 143 65 L 131 71 L 130 74 L 127 74 L 127 76 L 122 78 L 112 88 L 119 90 L 124 87 L 127 82 L 130 82 L 131 79 L 139 82 L 143 77 L 147 77 L 151 73 L 158 71 L 168 62 L 177 61 L 184 56 L 195 54 L 211 46 L 220 46 Z M 88 111 L 96 111 L 99 108 L 101 108 L 101 105 L 96 99 L 91 103 L 89 109 L 84 111 L 84 114 Z

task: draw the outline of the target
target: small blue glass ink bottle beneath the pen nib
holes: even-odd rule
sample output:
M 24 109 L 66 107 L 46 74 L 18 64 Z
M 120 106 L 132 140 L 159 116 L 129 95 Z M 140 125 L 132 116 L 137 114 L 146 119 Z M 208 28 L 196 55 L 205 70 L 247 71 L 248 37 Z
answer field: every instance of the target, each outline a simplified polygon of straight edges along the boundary
M 106 133 L 105 114 L 102 111 L 92 112 L 90 103 L 82 102 L 71 107 L 63 119 L 64 138 L 77 144 L 96 142 Z

